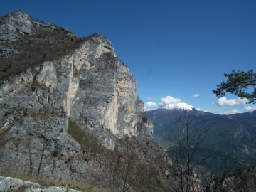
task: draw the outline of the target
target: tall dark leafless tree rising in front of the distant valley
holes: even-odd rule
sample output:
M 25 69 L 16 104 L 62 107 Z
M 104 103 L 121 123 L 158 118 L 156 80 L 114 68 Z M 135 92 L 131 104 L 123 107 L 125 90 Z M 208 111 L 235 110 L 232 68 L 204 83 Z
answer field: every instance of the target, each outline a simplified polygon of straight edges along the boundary
M 195 117 L 186 110 L 179 113 L 176 134 L 171 137 L 173 144 L 168 154 L 178 172 L 178 183 L 172 187 L 174 191 L 198 191 L 200 183 L 196 171 L 210 157 L 208 149 L 200 147 L 209 127 L 196 123 Z

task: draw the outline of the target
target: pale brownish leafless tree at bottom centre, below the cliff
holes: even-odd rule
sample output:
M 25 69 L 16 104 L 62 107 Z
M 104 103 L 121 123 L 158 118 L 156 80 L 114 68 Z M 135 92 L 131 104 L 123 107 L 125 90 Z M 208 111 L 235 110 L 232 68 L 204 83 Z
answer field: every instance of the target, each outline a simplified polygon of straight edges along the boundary
M 122 149 L 111 151 L 100 145 L 95 147 L 99 151 L 92 151 L 92 137 L 86 137 L 85 154 L 86 161 L 95 161 L 101 169 L 95 169 L 92 173 L 95 186 L 108 188 L 110 191 L 125 192 L 132 188 L 145 189 L 144 185 L 147 165 L 142 163 L 142 157 L 124 139 Z

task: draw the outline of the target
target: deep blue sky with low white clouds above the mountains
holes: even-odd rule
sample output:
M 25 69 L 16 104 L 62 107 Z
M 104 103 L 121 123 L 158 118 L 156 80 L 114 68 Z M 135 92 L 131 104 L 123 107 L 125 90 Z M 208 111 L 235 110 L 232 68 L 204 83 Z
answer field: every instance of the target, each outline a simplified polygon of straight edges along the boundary
M 211 91 L 226 80 L 224 73 L 256 72 L 255 0 L 1 2 L 1 15 L 14 10 L 78 36 L 108 38 L 147 108 L 185 102 L 215 113 L 256 110 L 235 95 L 219 100 Z

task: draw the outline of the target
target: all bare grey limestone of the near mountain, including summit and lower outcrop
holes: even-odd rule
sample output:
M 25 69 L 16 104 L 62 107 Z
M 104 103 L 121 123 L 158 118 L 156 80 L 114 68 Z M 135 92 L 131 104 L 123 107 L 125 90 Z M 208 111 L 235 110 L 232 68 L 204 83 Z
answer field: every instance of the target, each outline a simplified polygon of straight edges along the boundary
M 30 36 L 35 24 L 46 30 L 55 27 L 34 21 L 23 11 L 4 19 L 0 46 Z M 0 172 L 35 174 L 38 168 L 33 166 L 40 164 L 41 153 L 44 161 L 48 159 L 41 176 L 67 180 L 91 173 L 95 165 L 79 160 L 81 146 L 68 134 L 70 121 L 111 150 L 124 137 L 151 140 L 153 125 L 144 115 L 136 80 L 102 35 L 88 37 L 63 58 L 44 61 L 4 80 L 0 87 Z M 44 146 L 48 146 L 45 151 Z

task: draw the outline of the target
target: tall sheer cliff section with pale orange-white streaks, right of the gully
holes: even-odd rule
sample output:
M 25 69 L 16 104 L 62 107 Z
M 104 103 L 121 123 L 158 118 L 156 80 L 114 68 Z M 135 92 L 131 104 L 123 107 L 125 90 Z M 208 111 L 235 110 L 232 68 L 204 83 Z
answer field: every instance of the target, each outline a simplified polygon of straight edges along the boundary
M 45 68 L 52 67 L 49 63 Z M 68 117 L 92 131 L 101 128 L 117 137 L 151 137 L 150 125 L 144 132 L 140 130 L 144 105 L 137 97 L 136 81 L 127 66 L 117 60 L 106 38 L 93 36 L 73 55 L 60 60 L 56 68 L 60 82 L 55 83 L 53 73 L 47 77 L 43 68 L 38 77 L 40 83 L 60 93 Z

